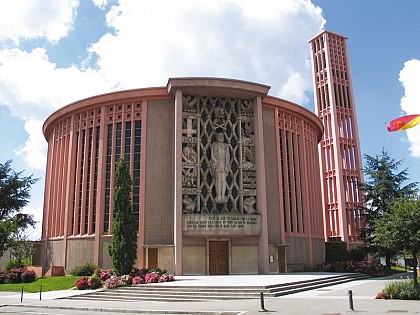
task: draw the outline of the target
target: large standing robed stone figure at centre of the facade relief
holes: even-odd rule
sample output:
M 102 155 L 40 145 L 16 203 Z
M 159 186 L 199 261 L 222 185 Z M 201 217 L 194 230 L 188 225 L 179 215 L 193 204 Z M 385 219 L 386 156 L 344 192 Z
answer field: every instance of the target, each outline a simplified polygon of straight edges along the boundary
M 216 188 L 216 203 L 225 204 L 228 201 L 226 196 L 226 177 L 230 171 L 229 145 L 224 143 L 224 134 L 219 132 L 216 141 L 211 145 L 211 166 L 214 186 Z

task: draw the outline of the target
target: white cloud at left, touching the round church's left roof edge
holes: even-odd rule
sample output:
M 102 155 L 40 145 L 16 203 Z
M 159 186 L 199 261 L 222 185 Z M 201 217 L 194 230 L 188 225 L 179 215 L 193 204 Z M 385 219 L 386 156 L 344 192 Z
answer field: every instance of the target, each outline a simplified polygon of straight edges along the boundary
M 19 49 L 0 51 L 0 103 L 9 106 L 13 116 L 25 120 L 29 138 L 17 153 L 23 155 L 30 168 L 45 169 L 47 146 L 42 124 L 54 110 L 110 89 L 96 70 L 57 68 L 42 48 L 30 53 Z

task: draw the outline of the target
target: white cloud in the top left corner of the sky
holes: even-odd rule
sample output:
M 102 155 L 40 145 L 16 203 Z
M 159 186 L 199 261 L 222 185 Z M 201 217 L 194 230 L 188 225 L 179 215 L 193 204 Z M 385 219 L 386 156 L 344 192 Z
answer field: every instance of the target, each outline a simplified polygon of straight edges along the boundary
M 0 41 L 46 38 L 56 42 L 72 27 L 79 0 L 3 0 Z

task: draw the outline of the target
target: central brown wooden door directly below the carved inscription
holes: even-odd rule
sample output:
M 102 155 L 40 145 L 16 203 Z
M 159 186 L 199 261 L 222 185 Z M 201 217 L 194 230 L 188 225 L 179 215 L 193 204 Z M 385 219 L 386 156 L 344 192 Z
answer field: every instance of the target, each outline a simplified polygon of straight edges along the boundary
M 229 246 L 227 241 L 209 242 L 209 274 L 229 274 Z

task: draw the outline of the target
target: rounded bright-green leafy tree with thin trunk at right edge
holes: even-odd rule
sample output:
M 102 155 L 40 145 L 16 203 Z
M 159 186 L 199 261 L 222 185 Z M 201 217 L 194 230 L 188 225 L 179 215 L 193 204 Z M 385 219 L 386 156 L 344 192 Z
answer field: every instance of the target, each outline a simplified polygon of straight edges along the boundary
M 416 267 L 420 253 L 420 200 L 398 200 L 382 218 L 375 220 L 375 241 L 378 245 L 397 252 L 413 255 L 413 280 L 418 286 Z

